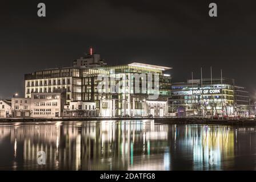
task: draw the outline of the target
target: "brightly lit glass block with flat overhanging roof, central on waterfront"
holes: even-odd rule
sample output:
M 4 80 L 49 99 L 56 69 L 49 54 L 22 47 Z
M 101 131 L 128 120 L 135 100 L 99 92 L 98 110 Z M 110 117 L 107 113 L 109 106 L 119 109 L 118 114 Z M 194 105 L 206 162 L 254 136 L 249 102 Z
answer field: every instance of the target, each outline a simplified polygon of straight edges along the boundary
M 162 67 L 158 65 L 131 63 L 127 65 L 117 65 L 99 68 L 104 71 L 109 71 L 111 77 L 125 78 L 125 84 L 122 86 L 121 93 L 111 94 L 109 100 L 102 100 L 103 106 L 99 113 L 102 117 L 130 115 L 130 116 L 167 116 L 168 107 L 167 100 L 170 96 L 171 77 L 164 74 L 163 71 L 169 70 L 169 67 Z M 147 77 L 139 78 L 139 85 L 135 84 L 134 74 L 144 73 L 145 76 L 151 75 L 159 77 L 158 90 L 149 86 L 151 83 Z M 142 85 L 145 79 L 146 90 L 143 92 Z M 117 82 L 111 83 L 111 85 Z M 157 83 L 152 83 L 157 86 Z M 139 91 L 138 91 L 139 90 Z M 157 95 L 156 100 L 150 100 L 150 95 Z

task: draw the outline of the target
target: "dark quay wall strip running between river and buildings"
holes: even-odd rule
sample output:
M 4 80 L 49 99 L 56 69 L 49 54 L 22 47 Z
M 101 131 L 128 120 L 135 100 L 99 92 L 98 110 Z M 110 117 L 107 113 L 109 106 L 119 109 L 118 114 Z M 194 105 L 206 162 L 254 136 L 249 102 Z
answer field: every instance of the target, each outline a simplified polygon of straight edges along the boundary
M 193 117 L 70 117 L 70 118 L 0 118 L 0 123 L 6 122 L 57 122 L 57 121 L 131 121 L 154 120 L 155 123 L 191 124 L 191 125 L 250 125 L 256 126 L 255 119 L 212 119 Z

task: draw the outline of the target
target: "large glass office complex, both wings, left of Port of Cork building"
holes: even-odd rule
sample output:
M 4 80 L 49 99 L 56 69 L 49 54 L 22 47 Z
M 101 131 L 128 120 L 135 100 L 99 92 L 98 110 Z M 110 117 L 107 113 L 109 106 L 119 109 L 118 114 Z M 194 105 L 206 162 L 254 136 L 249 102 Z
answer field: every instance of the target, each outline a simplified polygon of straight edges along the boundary
M 142 63 L 46 69 L 25 75 L 25 98 L 30 98 L 31 93 L 66 89 L 67 105 L 76 101 L 95 102 L 95 109 L 99 110 L 99 116 L 102 117 L 163 116 L 168 114 L 167 99 L 171 93 L 171 77 L 163 73 L 168 69 L 171 68 Z M 98 90 L 102 75 L 108 79 L 107 86 Z M 139 77 L 139 84 L 135 84 L 136 76 Z M 122 92 L 110 92 L 120 82 L 111 79 L 113 77 L 122 78 L 121 81 L 125 82 L 121 86 Z M 148 81 L 149 77 L 152 81 Z M 154 80 L 155 77 L 158 80 Z M 146 90 L 142 89 L 144 84 Z M 149 96 L 153 95 L 158 97 L 151 100 Z

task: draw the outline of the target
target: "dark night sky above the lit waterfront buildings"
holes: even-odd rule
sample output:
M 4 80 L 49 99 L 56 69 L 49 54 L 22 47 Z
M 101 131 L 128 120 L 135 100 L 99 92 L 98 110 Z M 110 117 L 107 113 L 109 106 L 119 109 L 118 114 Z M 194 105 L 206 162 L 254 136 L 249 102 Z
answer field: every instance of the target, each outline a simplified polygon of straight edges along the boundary
M 37 16 L 39 2 L 46 17 Z M 209 3 L 218 17 L 209 16 Z M 107 63 L 173 67 L 173 82 L 234 78 L 256 96 L 254 1 L 1 1 L 0 97 L 23 96 L 25 73 L 67 67 L 92 46 Z

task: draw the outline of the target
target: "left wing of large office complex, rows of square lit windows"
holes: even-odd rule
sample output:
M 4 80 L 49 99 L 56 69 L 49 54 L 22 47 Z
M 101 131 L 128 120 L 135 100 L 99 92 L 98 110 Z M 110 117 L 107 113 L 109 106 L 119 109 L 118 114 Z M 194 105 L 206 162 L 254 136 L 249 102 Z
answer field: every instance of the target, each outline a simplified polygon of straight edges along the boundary
M 66 89 L 66 104 L 71 101 L 99 100 L 97 76 L 108 74 L 95 68 L 55 68 L 25 75 L 25 98 L 31 93 L 51 93 L 54 89 Z

